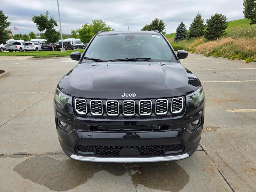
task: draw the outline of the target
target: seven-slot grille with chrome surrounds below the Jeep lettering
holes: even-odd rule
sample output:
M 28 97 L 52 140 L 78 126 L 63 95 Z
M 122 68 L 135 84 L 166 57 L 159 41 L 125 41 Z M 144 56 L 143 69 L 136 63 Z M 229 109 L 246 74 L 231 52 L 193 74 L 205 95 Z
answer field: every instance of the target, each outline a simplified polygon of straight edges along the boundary
M 88 106 L 87 106 L 88 103 Z M 176 115 L 184 108 L 184 98 L 163 98 L 148 100 L 96 100 L 75 98 L 74 110 L 78 115 L 103 114 L 107 116 L 150 116 Z

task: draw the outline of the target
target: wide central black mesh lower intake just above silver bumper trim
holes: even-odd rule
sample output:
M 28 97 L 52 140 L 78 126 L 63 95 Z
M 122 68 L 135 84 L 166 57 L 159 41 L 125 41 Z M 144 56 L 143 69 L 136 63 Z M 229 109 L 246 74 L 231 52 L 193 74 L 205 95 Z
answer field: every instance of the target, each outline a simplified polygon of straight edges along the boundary
M 95 146 L 96 154 L 100 156 L 121 156 L 121 149 L 138 149 L 139 156 L 155 156 L 162 155 L 164 145 L 151 146 Z

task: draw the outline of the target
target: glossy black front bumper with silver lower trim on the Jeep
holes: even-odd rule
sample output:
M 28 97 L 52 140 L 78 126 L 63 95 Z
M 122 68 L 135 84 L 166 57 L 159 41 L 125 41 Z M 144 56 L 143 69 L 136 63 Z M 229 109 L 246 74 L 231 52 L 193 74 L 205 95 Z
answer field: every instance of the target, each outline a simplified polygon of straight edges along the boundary
M 96 162 L 154 162 L 180 160 L 191 156 L 197 149 L 204 121 L 204 100 L 197 106 L 186 106 L 182 114 L 177 116 L 113 118 L 113 117 L 78 117 L 72 107 L 62 108 L 56 102 L 55 120 L 60 145 L 70 158 Z M 193 127 L 191 122 L 200 119 L 200 124 Z M 68 124 L 63 130 L 58 121 Z M 95 126 L 149 126 L 168 125 L 160 131 L 95 131 Z M 180 144 L 179 151 L 169 152 L 166 147 Z M 78 146 L 92 146 L 92 152 L 81 152 Z M 131 148 L 139 146 L 163 146 L 162 154 L 157 155 L 108 155 L 98 154 L 97 147 Z M 127 146 L 127 147 L 126 147 Z

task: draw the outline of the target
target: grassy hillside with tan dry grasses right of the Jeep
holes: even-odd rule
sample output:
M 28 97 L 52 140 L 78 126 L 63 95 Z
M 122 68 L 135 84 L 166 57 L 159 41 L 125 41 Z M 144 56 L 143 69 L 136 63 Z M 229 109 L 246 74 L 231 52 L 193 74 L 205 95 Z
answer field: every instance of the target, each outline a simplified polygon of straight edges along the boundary
M 175 33 L 165 36 L 176 51 L 183 49 L 191 53 L 202 53 L 205 56 L 241 59 L 248 63 L 256 61 L 256 25 L 250 25 L 249 22 L 249 19 L 229 21 L 226 36 L 215 41 L 200 37 L 176 43 Z

